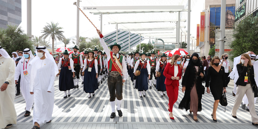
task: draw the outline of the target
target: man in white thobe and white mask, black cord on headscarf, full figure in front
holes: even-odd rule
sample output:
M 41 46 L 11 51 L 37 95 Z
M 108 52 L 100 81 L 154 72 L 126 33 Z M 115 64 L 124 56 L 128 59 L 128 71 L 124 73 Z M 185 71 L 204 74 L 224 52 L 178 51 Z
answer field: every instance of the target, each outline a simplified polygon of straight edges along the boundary
M 58 68 L 46 47 L 36 47 L 36 57 L 30 62 L 30 94 L 34 94 L 33 129 L 49 123 L 54 108 L 54 81 Z

